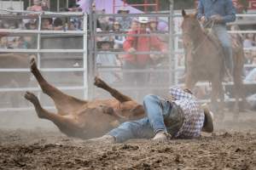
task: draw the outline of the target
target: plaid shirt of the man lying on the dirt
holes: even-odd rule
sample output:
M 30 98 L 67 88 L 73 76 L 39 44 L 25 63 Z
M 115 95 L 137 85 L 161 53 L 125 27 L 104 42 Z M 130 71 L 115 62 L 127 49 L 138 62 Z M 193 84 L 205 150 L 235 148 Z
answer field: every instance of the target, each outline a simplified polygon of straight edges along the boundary
M 181 88 L 170 88 L 172 102 L 183 110 L 183 125 L 175 135 L 175 138 L 196 138 L 200 136 L 204 124 L 205 115 L 195 96 L 188 94 Z

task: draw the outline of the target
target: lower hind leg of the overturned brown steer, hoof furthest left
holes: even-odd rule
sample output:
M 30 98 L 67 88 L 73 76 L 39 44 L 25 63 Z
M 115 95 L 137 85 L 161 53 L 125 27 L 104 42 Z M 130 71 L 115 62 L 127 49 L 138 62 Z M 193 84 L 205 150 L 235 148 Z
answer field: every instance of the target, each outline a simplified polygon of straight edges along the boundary
M 61 116 L 61 114 L 55 114 L 44 110 L 35 94 L 26 92 L 24 97 L 34 105 L 39 118 L 54 122 L 61 132 L 66 133 L 67 135 L 72 135 L 73 129 L 77 129 L 79 127 L 78 123 L 72 116 Z

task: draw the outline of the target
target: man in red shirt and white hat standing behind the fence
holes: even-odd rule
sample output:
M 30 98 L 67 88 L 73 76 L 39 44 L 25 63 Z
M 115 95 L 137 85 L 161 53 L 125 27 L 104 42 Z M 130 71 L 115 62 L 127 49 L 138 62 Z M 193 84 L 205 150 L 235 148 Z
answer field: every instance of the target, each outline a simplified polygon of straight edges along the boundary
M 145 88 L 149 80 L 149 73 L 144 72 L 148 69 L 150 63 L 149 54 L 135 54 L 136 52 L 149 52 L 151 48 L 166 52 L 166 45 L 160 42 L 158 37 L 154 36 L 140 36 L 140 34 L 149 34 L 148 17 L 139 17 L 139 26 L 137 30 L 131 30 L 127 33 L 123 48 L 128 52 L 124 56 L 124 82 L 125 86 Z M 134 35 L 137 35 L 134 36 Z M 137 71 L 137 72 L 129 72 Z M 140 97 L 144 94 L 139 93 Z

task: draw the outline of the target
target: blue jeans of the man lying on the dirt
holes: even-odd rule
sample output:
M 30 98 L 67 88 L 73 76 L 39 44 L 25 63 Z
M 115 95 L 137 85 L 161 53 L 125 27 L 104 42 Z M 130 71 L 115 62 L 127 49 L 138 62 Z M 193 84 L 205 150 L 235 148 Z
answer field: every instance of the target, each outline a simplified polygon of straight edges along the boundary
M 119 127 L 108 133 L 115 137 L 117 142 L 127 139 L 150 139 L 159 131 L 165 131 L 174 135 L 182 124 L 180 113 L 170 102 L 160 99 L 156 95 L 147 95 L 143 99 L 144 109 L 147 117 L 137 121 L 124 122 Z M 165 122 L 168 123 L 166 126 Z M 177 122 L 177 123 L 175 123 Z

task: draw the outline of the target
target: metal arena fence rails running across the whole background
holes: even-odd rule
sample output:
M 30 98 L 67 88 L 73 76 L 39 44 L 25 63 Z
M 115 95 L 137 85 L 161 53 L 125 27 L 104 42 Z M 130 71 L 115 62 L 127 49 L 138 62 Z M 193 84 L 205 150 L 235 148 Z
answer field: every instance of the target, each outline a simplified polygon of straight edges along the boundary
M 18 17 L 24 17 L 24 18 L 35 18 L 35 15 L 30 15 L 30 14 L 36 14 L 36 17 L 38 18 L 38 29 L 37 30 L 19 30 L 19 29 L 15 29 L 15 30 L 10 30 L 10 29 L 0 29 L 0 31 L 3 32 L 8 32 L 10 34 L 19 34 L 19 35 L 25 35 L 25 34 L 35 34 L 38 36 L 38 41 L 37 41 L 37 48 L 33 48 L 33 49 L 19 49 L 19 48 L 15 48 L 15 49 L 5 49 L 5 48 L 0 48 L 0 52 L 4 52 L 4 53 L 26 53 L 26 54 L 37 54 L 38 57 L 38 68 L 40 71 L 46 71 L 46 72 L 69 72 L 69 71 L 76 71 L 76 72 L 83 72 L 83 86 L 73 86 L 73 87 L 58 87 L 61 90 L 84 90 L 84 99 L 88 98 L 88 82 L 91 82 L 88 79 L 88 70 L 90 67 L 90 65 L 92 65 L 91 60 L 93 59 L 93 55 L 92 54 L 127 54 L 126 52 L 123 51 L 119 51 L 119 52 L 115 52 L 115 51 L 111 51 L 111 52 L 107 52 L 107 51 L 100 51 L 97 49 L 93 49 L 93 48 L 89 48 L 90 50 L 94 50 L 94 51 L 90 51 L 90 53 L 88 53 L 88 47 L 91 45 L 91 43 L 94 42 L 90 42 L 87 38 L 88 38 L 88 33 L 92 33 L 92 35 L 94 37 L 102 37 L 102 36 L 126 36 L 125 33 L 118 33 L 118 32 L 96 32 L 96 30 L 90 30 L 87 31 L 88 26 L 87 26 L 87 15 L 83 14 L 83 13 L 51 13 L 51 12 L 45 12 L 45 13 L 35 13 L 35 12 L 28 12 L 28 11 L 9 11 L 9 10 L 5 10 L 8 12 L 15 12 L 15 13 L 20 13 L 21 15 Z M 145 34 L 145 35 L 134 35 L 135 37 L 141 37 L 141 36 L 170 36 L 172 35 L 172 37 L 169 37 L 169 50 L 168 52 L 166 52 L 166 54 L 169 54 L 169 64 L 170 67 L 168 69 L 161 69 L 161 70 L 154 70 L 154 72 L 168 72 L 171 75 L 170 76 L 170 80 L 172 80 L 171 82 L 169 82 L 169 85 L 171 84 L 177 84 L 177 71 L 181 71 L 183 70 L 183 67 L 178 66 L 177 65 L 177 54 L 183 54 L 183 49 L 179 49 L 177 48 L 177 42 L 178 42 L 178 38 L 181 36 L 181 31 L 176 31 L 176 33 L 174 33 L 174 29 L 172 29 L 174 27 L 174 23 L 173 20 L 177 17 L 182 17 L 181 14 L 139 14 L 140 16 L 148 16 L 148 17 L 166 17 L 168 19 L 168 24 L 169 24 L 169 31 L 164 31 L 164 32 L 157 32 L 157 33 L 153 33 L 153 34 Z M 69 17 L 69 16 L 79 16 L 79 17 L 83 17 L 83 31 L 44 31 L 41 30 L 41 20 L 46 17 L 46 16 L 60 16 L 60 17 Z M 121 14 L 96 14 L 96 18 L 97 17 L 101 17 L 101 16 L 114 16 L 114 17 L 119 17 L 122 16 Z M 129 14 L 129 16 L 133 16 L 133 17 L 137 17 L 138 14 Z M 255 17 L 256 14 L 237 14 L 237 17 Z M 0 18 L 10 18 L 10 16 L 8 15 L 3 15 L 0 16 Z M 94 25 L 96 25 L 96 18 L 90 19 L 90 20 L 94 20 Z M 235 34 L 235 33 L 256 33 L 256 31 L 229 31 L 231 34 Z M 60 49 L 60 48 L 56 48 L 56 49 L 43 49 L 41 47 L 41 39 L 42 39 L 42 35 L 44 34 L 49 34 L 49 35 L 73 35 L 73 36 L 81 36 L 83 37 L 83 48 L 80 49 Z M 90 44 L 88 44 L 90 43 Z M 173 47 L 172 47 L 173 46 Z M 172 49 L 174 48 L 174 49 Z M 256 48 L 244 48 L 244 50 L 255 50 Z M 41 58 L 42 58 L 42 54 L 48 54 L 48 53 L 76 53 L 76 54 L 83 54 L 83 67 L 82 68 L 42 68 L 41 66 Z M 90 59 L 87 58 L 87 54 L 90 55 Z M 136 54 L 161 54 L 160 52 L 138 52 Z M 95 64 L 95 63 L 93 63 Z M 245 65 L 245 66 L 255 66 L 255 65 Z M 120 68 L 99 68 L 99 70 L 102 71 L 122 71 Z M 29 69 L 23 69 L 23 68 L 11 68 L 11 69 L 1 69 L 0 68 L 0 72 L 29 72 Z M 152 70 L 145 70 L 145 71 L 152 71 Z M 129 72 L 129 71 L 128 71 Z M 132 72 L 132 71 L 131 71 Z M 142 71 L 143 72 L 143 71 Z M 173 76 L 174 75 L 174 76 Z M 174 80 L 173 80 L 173 77 Z M 254 82 L 252 82 L 254 83 Z M 200 83 L 201 84 L 201 83 Z M 203 84 L 203 83 L 202 83 Z M 207 84 L 207 83 L 205 83 Z M 230 82 L 230 84 L 232 84 Z M 152 89 L 157 89 L 160 87 L 152 87 Z M 128 89 L 128 88 L 120 88 L 120 89 Z M 129 89 L 137 89 L 137 88 L 129 88 Z M 20 91 L 26 91 L 26 90 L 32 90 L 32 91 L 40 91 L 40 88 L 0 88 L 0 92 L 20 92 Z M 40 95 L 38 94 L 38 96 L 40 97 Z M 27 109 L 31 109 L 31 108 L 27 108 Z M 26 108 L 0 108 L 0 112 L 1 111 L 25 111 Z

